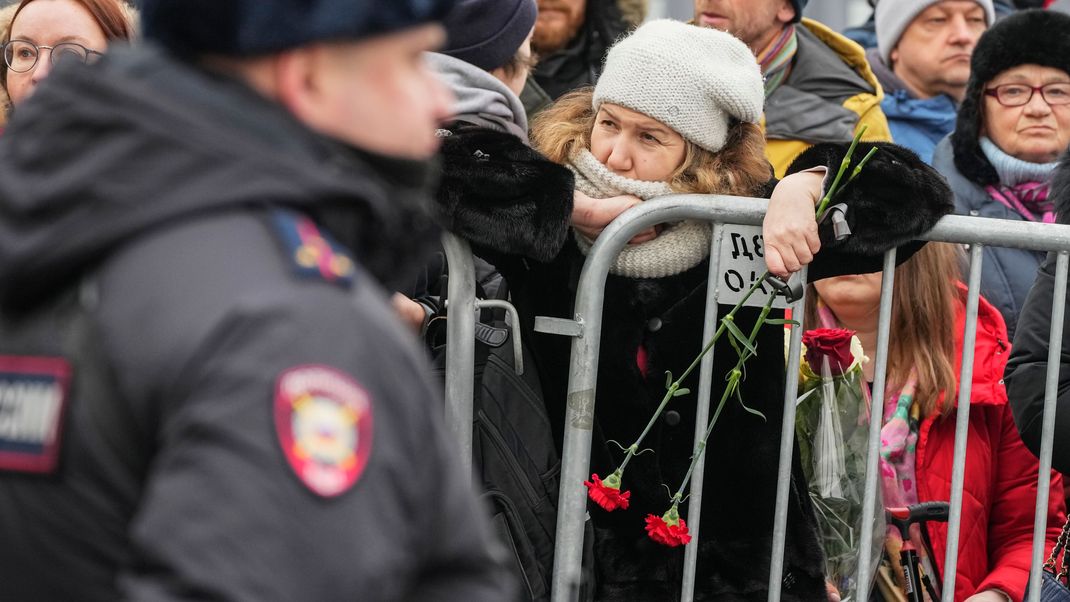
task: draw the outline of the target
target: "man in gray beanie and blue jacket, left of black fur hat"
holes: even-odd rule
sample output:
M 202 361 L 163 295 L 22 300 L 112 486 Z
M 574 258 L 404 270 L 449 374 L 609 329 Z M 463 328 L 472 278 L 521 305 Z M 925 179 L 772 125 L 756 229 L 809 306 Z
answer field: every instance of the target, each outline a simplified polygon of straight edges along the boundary
M 954 129 L 969 58 L 993 22 L 992 0 L 882 0 L 878 47 L 867 58 L 884 88 L 881 108 L 896 142 L 932 160 Z

